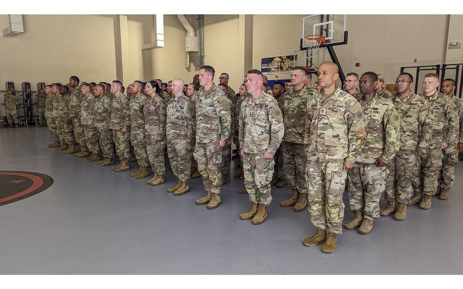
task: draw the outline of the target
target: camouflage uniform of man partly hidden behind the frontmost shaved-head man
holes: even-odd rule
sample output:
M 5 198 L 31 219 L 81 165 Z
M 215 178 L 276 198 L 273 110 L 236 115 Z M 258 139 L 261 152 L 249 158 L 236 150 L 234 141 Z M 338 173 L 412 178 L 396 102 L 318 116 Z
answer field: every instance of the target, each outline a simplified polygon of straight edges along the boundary
M 307 193 L 307 156 L 304 150 L 305 113 L 307 103 L 318 92 L 304 85 L 299 92 L 293 89 L 284 93 L 283 123 L 284 136 L 281 147 L 283 150 L 283 170 L 288 186 L 298 190 L 301 194 Z

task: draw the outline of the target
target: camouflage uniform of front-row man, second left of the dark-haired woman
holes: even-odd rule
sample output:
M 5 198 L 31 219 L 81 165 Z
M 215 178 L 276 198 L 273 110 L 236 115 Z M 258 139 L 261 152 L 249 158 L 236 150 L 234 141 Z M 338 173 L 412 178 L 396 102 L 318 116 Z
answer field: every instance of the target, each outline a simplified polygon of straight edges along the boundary
M 112 129 L 112 138 L 119 160 L 128 162 L 130 151 L 130 108 L 129 97 L 123 93 L 114 96 L 112 99 L 109 128 Z M 127 129 L 127 131 L 122 132 L 123 128 Z

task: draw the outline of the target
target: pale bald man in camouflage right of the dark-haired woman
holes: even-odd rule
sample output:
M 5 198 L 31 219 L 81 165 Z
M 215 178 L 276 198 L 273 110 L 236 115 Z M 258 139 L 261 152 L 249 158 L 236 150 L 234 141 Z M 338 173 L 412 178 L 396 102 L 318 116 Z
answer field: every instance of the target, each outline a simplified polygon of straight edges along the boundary
M 179 183 L 167 189 L 174 195 L 183 195 L 190 191 L 188 182 L 191 174 L 191 155 L 193 153 L 194 106 L 183 94 L 185 82 L 176 78 L 172 80 L 173 99 L 167 105 L 167 154 L 173 175 Z

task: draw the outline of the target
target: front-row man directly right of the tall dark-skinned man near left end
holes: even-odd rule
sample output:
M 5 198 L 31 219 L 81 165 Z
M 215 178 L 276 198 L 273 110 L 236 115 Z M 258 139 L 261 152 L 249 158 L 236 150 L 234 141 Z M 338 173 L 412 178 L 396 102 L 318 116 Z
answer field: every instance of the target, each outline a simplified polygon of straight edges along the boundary
M 93 89 L 91 84 L 82 84 L 80 90 L 83 94 L 82 101 L 80 102 L 80 123 L 83 125 L 87 148 L 90 152 L 92 152 L 92 155 L 90 157 L 86 157 L 85 160 L 91 162 L 99 161 L 100 157 L 98 156 L 98 153 L 100 151 L 100 147 L 98 131 L 93 122 L 93 111 L 95 109 L 96 98 L 92 94 Z

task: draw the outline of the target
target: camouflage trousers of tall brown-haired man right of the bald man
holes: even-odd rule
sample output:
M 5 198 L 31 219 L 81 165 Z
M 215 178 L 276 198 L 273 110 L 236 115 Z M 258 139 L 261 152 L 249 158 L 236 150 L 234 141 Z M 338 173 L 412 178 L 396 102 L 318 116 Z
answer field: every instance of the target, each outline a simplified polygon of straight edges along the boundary
M 220 163 L 222 162 L 222 148 L 216 141 L 196 142 L 193 156 L 198 162 L 198 170 L 207 192 L 220 193 L 222 175 L 220 174 Z

